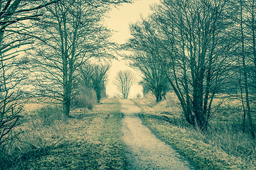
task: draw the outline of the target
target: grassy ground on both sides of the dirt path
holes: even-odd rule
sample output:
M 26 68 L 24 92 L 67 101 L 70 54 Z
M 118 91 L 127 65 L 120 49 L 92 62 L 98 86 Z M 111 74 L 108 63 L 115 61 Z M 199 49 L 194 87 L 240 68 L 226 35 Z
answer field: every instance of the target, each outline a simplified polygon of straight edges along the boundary
M 237 99 L 216 98 L 223 104 L 204 134 L 189 127 L 174 94 L 160 103 L 150 94 L 134 101 L 144 125 L 200 169 L 255 169 L 255 141 L 241 130 Z M 16 128 L 21 134 L 0 154 L 1 169 L 125 169 L 120 110 L 117 98 L 106 98 L 65 119 L 57 106 L 29 103 Z

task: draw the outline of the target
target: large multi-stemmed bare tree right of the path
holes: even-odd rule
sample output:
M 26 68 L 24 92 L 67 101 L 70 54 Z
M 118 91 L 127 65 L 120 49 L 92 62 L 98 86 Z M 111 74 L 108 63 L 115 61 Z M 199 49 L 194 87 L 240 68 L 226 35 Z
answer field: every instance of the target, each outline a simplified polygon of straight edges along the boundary
M 233 26 L 228 1 L 161 1 L 154 11 L 143 21 L 146 31 L 130 44 L 161 62 L 186 120 L 206 131 L 236 43 L 228 33 Z

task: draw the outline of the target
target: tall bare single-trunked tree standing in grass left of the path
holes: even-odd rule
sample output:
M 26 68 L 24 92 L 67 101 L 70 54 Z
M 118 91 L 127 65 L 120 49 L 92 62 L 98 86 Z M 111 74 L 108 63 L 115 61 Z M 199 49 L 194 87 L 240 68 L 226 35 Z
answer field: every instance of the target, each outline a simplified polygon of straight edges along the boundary
M 106 57 L 113 43 L 102 17 L 110 4 L 122 1 L 58 1 L 44 11 L 33 54 L 36 94 L 53 98 L 70 114 L 78 68 L 91 57 Z

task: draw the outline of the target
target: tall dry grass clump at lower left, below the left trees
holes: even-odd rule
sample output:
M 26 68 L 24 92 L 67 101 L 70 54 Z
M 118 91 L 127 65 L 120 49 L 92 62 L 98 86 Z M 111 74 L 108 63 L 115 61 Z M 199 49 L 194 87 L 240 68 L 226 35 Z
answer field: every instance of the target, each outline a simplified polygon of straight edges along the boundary
M 63 140 L 67 123 L 63 119 L 63 112 L 58 106 L 45 106 L 31 115 L 21 118 L 14 133 L 20 135 L 6 146 L 0 155 L 3 169 L 22 162 L 24 157 L 45 154 L 49 147 L 54 147 Z

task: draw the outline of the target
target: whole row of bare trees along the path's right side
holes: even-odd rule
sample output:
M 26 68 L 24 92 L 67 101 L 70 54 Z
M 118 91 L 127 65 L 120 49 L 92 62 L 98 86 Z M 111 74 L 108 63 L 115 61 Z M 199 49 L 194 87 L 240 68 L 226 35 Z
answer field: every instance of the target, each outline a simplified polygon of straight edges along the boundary
M 161 0 L 130 26 L 127 58 L 156 101 L 171 89 L 187 122 L 202 131 L 216 94 L 237 96 L 243 128 L 255 137 L 255 9 L 254 0 Z

